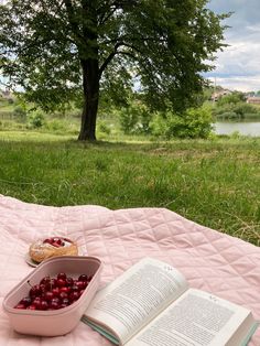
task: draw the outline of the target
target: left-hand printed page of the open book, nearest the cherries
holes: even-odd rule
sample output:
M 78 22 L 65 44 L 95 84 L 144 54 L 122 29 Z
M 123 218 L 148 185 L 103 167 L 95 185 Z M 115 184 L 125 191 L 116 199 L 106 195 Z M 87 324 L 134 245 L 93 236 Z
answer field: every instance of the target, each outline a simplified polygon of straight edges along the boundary
M 126 343 L 186 289 L 176 269 L 144 258 L 97 293 L 84 321 L 107 325 Z

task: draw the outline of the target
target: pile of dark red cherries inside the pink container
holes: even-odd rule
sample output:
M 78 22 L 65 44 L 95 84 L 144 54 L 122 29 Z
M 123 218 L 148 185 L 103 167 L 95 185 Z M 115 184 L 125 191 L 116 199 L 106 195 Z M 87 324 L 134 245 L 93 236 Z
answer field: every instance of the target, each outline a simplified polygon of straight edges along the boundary
M 14 309 L 57 310 L 72 305 L 84 293 L 91 277 L 80 274 L 78 279 L 58 273 L 56 278 L 45 277 L 39 284 L 31 285 L 29 295 L 24 296 Z

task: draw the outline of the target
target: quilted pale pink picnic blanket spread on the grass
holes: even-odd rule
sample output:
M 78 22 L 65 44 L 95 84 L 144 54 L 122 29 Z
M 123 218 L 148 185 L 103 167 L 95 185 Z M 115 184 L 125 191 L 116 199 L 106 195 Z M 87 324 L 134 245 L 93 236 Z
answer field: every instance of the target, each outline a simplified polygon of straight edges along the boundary
M 260 248 L 203 227 L 162 208 L 109 210 L 100 206 L 50 207 L 0 195 L 0 303 L 32 268 L 29 245 L 57 234 L 75 239 L 80 250 L 104 262 L 110 282 L 144 256 L 180 269 L 191 286 L 213 292 L 253 312 L 260 320 Z M 110 345 L 84 323 L 69 334 L 44 338 L 12 331 L 0 310 L 1 346 Z M 260 331 L 250 346 L 260 345 Z

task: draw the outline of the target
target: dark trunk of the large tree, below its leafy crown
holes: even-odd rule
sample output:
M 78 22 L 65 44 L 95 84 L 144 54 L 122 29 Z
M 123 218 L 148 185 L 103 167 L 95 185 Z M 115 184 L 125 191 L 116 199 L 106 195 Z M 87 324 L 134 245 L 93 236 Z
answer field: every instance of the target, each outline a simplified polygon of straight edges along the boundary
M 82 113 L 82 127 L 78 140 L 96 140 L 96 120 L 99 98 L 98 61 L 82 61 L 84 107 Z

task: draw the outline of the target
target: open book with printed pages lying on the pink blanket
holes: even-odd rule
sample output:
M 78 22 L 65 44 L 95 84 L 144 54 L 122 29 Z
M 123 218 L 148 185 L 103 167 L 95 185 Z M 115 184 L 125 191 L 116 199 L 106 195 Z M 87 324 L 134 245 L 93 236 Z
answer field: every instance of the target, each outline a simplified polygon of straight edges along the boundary
M 100 290 L 83 322 L 126 346 L 240 346 L 258 325 L 247 309 L 189 289 L 181 272 L 151 258 Z

